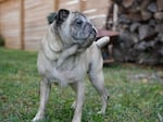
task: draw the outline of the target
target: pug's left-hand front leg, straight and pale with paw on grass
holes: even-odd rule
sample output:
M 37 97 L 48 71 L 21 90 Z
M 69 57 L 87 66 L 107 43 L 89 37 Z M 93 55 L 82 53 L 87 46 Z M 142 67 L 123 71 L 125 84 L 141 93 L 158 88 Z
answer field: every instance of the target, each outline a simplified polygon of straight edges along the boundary
M 40 105 L 37 114 L 33 119 L 33 122 L 36 122 L 38 120 L 42 120 L 45 118 L 45 111 L 46 111 L 46 105 L 49 99 L 51 84 L 48 80 L 43 80 L 40 83 Z

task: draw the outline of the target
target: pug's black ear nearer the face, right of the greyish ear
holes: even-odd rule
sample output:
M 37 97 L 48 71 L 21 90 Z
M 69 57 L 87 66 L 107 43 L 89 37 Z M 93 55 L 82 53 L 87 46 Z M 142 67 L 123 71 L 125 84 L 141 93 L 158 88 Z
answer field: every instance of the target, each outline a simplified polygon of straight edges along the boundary
M 61 25 L 70 15 L 70 11 L 65 9 L 61 9 L 57 15 L 57 24 Z

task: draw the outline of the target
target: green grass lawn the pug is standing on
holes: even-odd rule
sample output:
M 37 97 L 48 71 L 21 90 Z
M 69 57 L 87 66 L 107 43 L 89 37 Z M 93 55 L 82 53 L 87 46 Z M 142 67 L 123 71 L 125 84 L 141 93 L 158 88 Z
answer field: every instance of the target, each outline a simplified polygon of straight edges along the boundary
M 0 48 L 0 122 L 30 122 L 38 109 L 39 81 L 37 53 Z M 100 98 L 87 81 L 83 122 L 161 122 L 163 81 L 130 80 L 135 74 L 163 74 L 151 66 L 111 64 L 104 68 L 105 87 L 111 98 L 106 114 L 99 115 Z M 52 86 L 46 120 L 71 122 L 73 90 Z

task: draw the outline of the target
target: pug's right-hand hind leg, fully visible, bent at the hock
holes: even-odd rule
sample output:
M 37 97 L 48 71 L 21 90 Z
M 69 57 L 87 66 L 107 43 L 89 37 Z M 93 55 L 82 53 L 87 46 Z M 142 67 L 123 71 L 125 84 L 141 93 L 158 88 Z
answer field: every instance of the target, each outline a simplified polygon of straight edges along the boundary
M 101 69 L 90 68 L 89 78 L 102 99 L 102 108 L 101 111 L 99 111 L 98 113 L 104 114 L 108 106 L 109 93 L 104 88 L 104 77 L 103 77 L 102 68 Z

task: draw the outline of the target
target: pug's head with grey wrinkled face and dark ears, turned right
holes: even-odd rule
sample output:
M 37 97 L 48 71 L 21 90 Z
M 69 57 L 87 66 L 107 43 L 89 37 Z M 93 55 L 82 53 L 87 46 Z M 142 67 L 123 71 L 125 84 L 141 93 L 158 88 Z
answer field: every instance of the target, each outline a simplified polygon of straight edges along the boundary
M 54 30 L 65 44 L 78 44 L 80 47 L 89 47 L 96 39 L 96 29 L 90 21 L 79 12 L 60 10 L 53 16 L 52 23 Z

